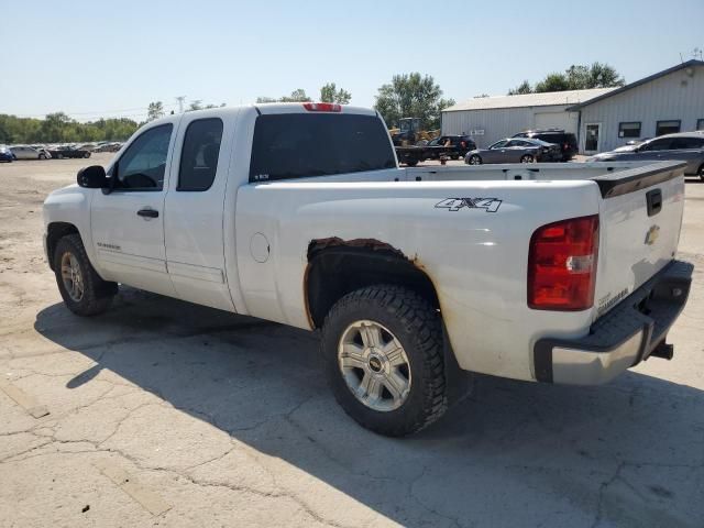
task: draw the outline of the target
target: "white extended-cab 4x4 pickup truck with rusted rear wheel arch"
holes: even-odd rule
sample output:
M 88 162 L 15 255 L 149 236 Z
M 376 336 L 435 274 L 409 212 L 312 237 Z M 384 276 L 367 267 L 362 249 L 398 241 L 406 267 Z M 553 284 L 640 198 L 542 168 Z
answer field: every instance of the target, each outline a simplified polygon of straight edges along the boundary
M 373 110 L 204 110 L 52 193 L 45 248 L 81 316 L 124 284 L 320 329 L 340 405 L 402 436 L 459 398 L 459 374 L 588 385 L 670 359 L 683 166 L 400 169 Z

